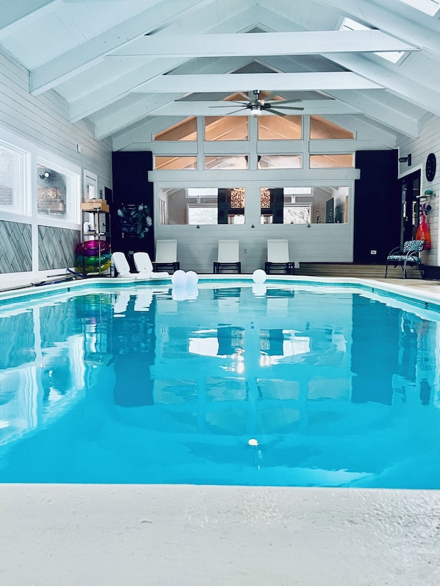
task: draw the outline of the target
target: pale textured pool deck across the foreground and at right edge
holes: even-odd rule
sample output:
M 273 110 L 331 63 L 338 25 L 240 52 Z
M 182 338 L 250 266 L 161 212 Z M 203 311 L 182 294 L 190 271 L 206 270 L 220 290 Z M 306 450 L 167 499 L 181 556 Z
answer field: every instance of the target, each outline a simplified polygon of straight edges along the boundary
M 0 515 L 12 586 L 440 584 L 440 491 L 0 484 Z

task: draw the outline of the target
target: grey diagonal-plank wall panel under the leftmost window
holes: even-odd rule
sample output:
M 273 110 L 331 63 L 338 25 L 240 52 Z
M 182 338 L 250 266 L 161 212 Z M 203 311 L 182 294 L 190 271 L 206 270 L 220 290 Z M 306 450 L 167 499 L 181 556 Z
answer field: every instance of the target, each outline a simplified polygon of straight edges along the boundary
M 0 273 L 32 271 L 32 226 L 0 221 Z

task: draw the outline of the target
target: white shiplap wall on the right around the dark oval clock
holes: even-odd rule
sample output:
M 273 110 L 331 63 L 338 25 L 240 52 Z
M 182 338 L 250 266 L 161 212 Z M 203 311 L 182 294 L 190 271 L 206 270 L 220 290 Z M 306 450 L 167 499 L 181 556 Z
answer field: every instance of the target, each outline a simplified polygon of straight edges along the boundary
M 399 177 L 404 177 L 406 174 L 421 169 L 421 194 L 426 189 L 430 189 L 436 194 L 435 197 L 429 200 L 430 205 L 432 205 L 432 212 L 428 216 L 432 247 L 430 251 L 423 251 L 423 262 L 428 265 L 439 266 L 440 117 L 434 115 L 424 117 L 419 128 L 419 138 L 401 137 L 397 147 L 399 148 L 399 157 L 406 157 L 410 154 L 412 159 L 410 167 L 408 167 L 407 163 L 399 164 Z M 431 183 L 426 179 L 425 174 L 426 157 L 428 157 L 429 153 L 434 153 L 437 157 L 437 173 Z

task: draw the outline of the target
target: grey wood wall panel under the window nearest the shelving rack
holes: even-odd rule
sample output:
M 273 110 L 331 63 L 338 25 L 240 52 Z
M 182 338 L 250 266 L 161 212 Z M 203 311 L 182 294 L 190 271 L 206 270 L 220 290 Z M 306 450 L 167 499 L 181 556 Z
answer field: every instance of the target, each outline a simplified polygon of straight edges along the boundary
M 79 230 L 39 226 L 39 270 L 75 266 L 75 248 L 81 241 Z

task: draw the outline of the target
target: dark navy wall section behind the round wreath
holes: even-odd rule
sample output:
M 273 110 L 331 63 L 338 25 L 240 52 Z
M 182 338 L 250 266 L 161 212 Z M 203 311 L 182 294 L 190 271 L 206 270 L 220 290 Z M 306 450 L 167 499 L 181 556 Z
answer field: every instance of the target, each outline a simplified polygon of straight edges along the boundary
M 123 234 L 118 222 L 118 207 L 123 204 L 148 205 L 153 218 L 153 183 L 148 171 L 153 169 L 153 154 L 146 150 L 118 151 L 112 154 L 113 202 L 111 205 L 111 249 L 128 254 L 129 251 L 146 251 L 154 258 L 153 226 L 144 238 Z

